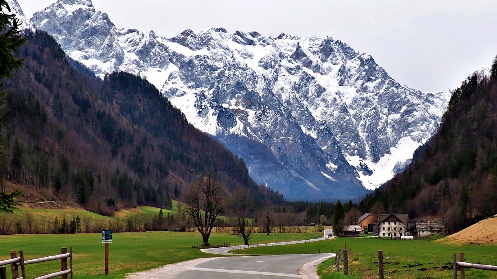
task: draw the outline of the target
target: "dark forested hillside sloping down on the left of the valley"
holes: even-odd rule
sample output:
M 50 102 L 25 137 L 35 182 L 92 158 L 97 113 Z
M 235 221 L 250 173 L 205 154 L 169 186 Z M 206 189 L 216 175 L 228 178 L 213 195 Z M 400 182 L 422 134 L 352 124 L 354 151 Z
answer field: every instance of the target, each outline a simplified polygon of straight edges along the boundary
M 188 124 L 148 81 L 128 73 L 104 80 L 68 61 L 45 32 L 27 33 L 24 68 L 5 79 L 0 178 L 52 189 L 108 214 L 137 205 L 170 207 L 207 171 L 254 203 L 282 200 L 257 186 L 245 162 Z M 78 69 L 78 70 L 76 70 Z

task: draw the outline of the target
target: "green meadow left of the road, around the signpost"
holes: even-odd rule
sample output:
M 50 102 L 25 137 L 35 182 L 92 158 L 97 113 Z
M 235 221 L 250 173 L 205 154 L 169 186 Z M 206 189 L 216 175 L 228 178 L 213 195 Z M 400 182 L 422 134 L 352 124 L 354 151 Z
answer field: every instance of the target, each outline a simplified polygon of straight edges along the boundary
M 254 233 L 250 243 L 312 239 L 320 236 L 321 233 L 272 233 L 269 236 Z M 109 276 L 103 276 L 104 244 L 100 237 L 100 234 L 0 235 L 0 260 L 8 259 L 10 250 L 23 250 L 25 259 L 29 260 L 60 254 L 61 247 L 73 247 L 76 278 L 117 279 L 123 278 L 127 273 L 170 263 L 215 257 L 191 248 L 193 244 L 202 244 L 198 232 L 115 233 L 113 243 L 109 244 Z M 209 242 L 240 245 L 243 244 L 243 239 L 228 233 L 213 233 Z M 56 271 L 60 271 L 60 261 L 28 265 L 26 277 L 34 278 Z

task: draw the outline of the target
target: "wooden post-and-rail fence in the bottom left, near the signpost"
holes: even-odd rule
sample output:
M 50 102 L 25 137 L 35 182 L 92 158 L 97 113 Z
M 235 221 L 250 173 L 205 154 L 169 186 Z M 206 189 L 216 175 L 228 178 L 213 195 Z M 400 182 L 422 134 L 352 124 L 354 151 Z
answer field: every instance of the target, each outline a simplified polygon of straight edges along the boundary
M 69 259 L 70 269 L 67 268 L 67 259 Z M 10 269 L 12 271 L 12 279 L 27 279 L 26 277 L 26 265 L 49 262 L 61 260 L 61 271 L 54 272 L 51 274 L 47 274 L 41 277 L 37 277 L 35 279 L 50 279 L 55 277 L 61 277 L 62 279 L 68 279 L 68 275 L 71 275 L 71 279 L 73 279 L 73 247 L 69 247 L 69 253 L 67 252 L 66 247 L 61 248 L 61 254 L 55 256 L 48 256 L 39 259 L 32 260 L 24 260 L 24 252 L 22 250 L 19 251 L 19 257 L 17 257 L 17 251 L 10 251 L 10 259 L 5 261 L 0 261 L 0 266 L 10 265 Z M 18 267 L 21 267 L 21 275 L 19 277 Z M 0 267 L 0 279 L 7 279 L 7 271 L 6 267 Z

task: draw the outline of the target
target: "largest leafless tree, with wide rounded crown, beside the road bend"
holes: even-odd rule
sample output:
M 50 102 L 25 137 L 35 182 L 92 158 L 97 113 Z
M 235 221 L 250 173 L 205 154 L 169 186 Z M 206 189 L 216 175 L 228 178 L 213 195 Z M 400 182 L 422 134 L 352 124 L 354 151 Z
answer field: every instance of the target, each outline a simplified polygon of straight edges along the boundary
M 218 216 L 225 208 L 224 196 L 223 186 L 210 173 L 195 182 L 185 196 L 185 213 L 202 235 L 204 246 L 210 246 L 212 229 L 218 225 Z

